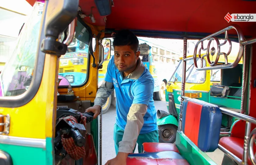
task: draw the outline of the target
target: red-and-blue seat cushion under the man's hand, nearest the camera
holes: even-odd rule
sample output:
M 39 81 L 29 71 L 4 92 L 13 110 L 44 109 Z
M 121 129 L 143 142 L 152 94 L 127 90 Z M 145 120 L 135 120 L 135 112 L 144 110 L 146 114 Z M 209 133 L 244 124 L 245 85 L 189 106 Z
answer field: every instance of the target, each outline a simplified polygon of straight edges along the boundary
M 126 161 L 127 165 L 189 165 L 179 153 L 174 151 L 162 151 L 153 153 L 130 154 Z

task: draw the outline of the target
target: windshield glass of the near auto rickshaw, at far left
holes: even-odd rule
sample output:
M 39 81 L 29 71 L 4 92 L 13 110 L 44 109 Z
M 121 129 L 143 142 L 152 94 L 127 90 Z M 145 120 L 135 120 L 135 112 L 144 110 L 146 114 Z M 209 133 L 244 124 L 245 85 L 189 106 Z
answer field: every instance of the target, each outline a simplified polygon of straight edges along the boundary
M 0 96 L 17 96 L 28 90 L 35 67 L 44 3 L 36 2 L 24 24 L 16 47 L 0 76 Z M 27 83 L 26 83 L 27 82 Z

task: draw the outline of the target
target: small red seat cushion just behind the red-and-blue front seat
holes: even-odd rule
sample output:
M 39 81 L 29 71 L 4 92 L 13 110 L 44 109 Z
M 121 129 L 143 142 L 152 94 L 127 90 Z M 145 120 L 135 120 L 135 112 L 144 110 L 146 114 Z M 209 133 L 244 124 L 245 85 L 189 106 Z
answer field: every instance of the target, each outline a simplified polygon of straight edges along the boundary
M 161 151 L 174 151 L 180 153 L 178 148 L 173 143 L 143 143 L 142 151 L 147 153 L 161 152 Z

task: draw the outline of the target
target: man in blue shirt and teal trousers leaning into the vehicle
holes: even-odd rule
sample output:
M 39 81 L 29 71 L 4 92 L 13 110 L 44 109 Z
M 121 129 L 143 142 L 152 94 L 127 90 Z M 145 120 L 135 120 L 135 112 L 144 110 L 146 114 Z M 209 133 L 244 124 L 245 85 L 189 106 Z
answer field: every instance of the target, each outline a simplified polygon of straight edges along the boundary
M 116 91 L 116 124 L 114 141 L 116 157 L 106 165 L 126 164 L 127 156 L 138 151 L 144 142 L 158 142 L 156 110 L 153 100 L 154 79 L 140 60 L 139 41 L 129 30 L 119 31 L 113 41 L 114 56 L 110 59 L 104 81 L 97 91 L 94 106 L 96 118 L 112 91 Z

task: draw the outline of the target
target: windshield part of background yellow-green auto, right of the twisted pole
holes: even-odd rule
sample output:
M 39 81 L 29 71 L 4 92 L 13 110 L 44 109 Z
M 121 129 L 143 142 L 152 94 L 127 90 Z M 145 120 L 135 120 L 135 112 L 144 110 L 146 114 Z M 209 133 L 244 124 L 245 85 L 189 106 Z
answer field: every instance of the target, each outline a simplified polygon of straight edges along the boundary
M 205 60 L 203 60 L 203 67 L 205 67 L 205 65 L 206 65 Z M 201 66 L 201 60 L 197 60 L 197 66 Z M 193 67 L 193 70 L 189 74 L 186 82 L 187 83 L 203 83 L 204 81 L 205 81 L 205 71 L 199 71 L 195 67 Z

